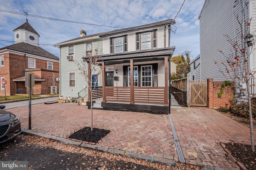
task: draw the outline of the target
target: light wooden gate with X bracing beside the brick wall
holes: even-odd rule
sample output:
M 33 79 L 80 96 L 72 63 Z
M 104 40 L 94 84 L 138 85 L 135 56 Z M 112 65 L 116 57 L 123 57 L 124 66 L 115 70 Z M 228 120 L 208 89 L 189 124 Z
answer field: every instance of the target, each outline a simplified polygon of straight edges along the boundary
M 188 98 L 189 106 L 208 106 L 207 103 L 207 80 L 190 80 L 188 81 Z

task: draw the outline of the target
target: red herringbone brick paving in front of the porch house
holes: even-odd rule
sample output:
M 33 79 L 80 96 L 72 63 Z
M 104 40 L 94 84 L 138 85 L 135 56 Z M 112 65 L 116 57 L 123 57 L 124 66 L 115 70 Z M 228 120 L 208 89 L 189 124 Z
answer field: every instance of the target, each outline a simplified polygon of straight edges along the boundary
M 22 129 L 28 129 L 26 106 L 7 111 L 18 115 Z M 250 145 L 248 127 L 207 107 L 175 107 L 171 108 L 170 115 L 187 164 L 239 170 L 220 143 L 234 141 Z M 86 106 L 75 103 L 41 103 L 32 107 L 30 132 L 53 139 L 69 140 L 69 135 L 90 127 L 90 124 L 91 112 Z M 110 130 L 110 133 L 98 143 L 74 142 L 105 151 L 116 150 L 115 152 L 119 151 L 124 155 L 134 154 L 137 158 L 179 161 L 173 137 L 174 129 L 171 129 L 168 115 L 94 109 L 93 127 Z

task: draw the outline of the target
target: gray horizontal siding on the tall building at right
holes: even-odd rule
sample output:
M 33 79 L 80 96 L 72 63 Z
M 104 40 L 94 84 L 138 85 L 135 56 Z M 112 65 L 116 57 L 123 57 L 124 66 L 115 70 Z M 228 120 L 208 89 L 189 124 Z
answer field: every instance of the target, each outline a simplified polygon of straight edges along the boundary
M 246 1 L 246 0 L 245 0 Z M 201 78 L 213 78 L 214 81 L 223 81 L 225 77 L 220 72 L 224 70 L 221 62 L 226 61 L 220 53 L 228 55 L 232 45 L 224 35 L 234 39 L 234 30 L 238 22 L 234 14 L 241 16 L 242 5 L 232 3 L 233 0 L 206 0 L 200 14 L 200 58 Z M 215 62 L 219 63 L 220 68 Z

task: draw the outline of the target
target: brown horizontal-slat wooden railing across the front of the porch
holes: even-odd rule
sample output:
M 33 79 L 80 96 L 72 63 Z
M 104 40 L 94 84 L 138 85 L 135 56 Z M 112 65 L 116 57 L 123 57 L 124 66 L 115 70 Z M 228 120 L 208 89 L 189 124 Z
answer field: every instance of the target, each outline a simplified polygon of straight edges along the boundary
M 134 87 L 134 102 L 164 104 L 164 87 Z M 130 102 L 130 87 L 105 87 L 105 101 Z

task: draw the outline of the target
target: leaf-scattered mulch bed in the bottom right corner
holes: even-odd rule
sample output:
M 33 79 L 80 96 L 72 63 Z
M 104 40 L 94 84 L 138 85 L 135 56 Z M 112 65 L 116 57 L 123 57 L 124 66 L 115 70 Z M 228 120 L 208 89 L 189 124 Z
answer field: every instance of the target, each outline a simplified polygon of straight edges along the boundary
M 250 145 L 241 143 L 227 143 L 226 148 L 236 160 L 240 161 L 248 170 L 256 170 L 256 153 Z

